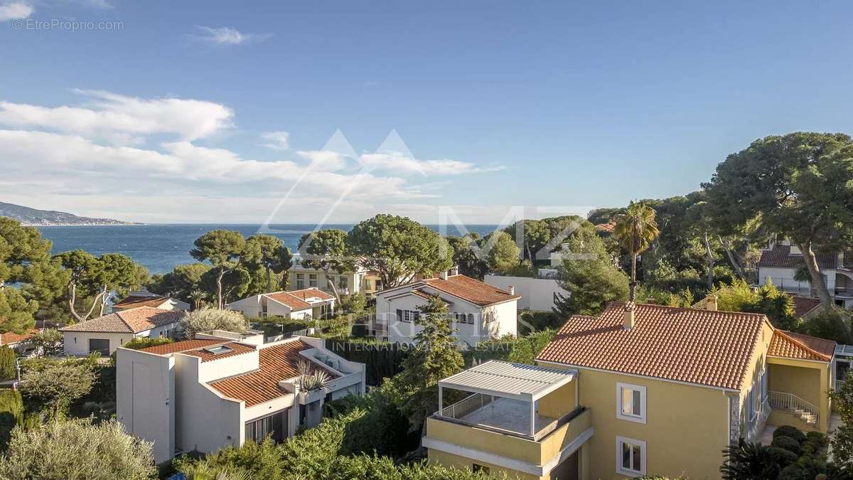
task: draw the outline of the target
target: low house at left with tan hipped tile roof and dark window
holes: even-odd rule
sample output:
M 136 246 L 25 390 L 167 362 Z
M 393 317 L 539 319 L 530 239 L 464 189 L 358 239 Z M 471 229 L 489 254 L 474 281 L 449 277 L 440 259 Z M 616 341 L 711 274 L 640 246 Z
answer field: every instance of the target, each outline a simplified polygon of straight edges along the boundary
M 113 354 L 136 337 L 173 337 L 182 310 L 134 307 L 59 329 L 67 355 Z

